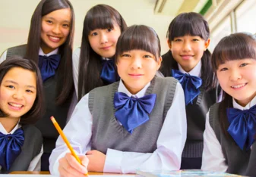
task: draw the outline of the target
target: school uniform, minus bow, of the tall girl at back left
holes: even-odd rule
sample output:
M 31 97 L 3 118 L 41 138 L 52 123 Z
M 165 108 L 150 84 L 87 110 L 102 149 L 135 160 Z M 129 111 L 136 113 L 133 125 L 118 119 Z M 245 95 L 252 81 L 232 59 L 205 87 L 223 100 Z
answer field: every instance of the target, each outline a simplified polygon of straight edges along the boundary
M 2 54 L 0 61 L 5 61 L 6 58 L 11 57 L 13 55 L 19 55 L 24 57 L 26 53 L 27 45 L 19 45 L 13 48 L 8 48 Z M 41 56 L 51 56 L 58 54 L 58 48 L 54 51 L 50 52 L 49 54 L 44 54 L 43 50 L 40 48 L 39 55 Z M 58 66 L 57 66 L 58 67 Z M 42 73 L 42 72 L 41 72 Z M 42 75 L 43 77 L 43 75 Z M 49 78 L 46 78 L 43 81 L 43 89 L 46 101 L 46 112 L 43 115 L 42 119 L 40 119 L 36 123 L 36 127 L 40 129 L 43 135 L 43 157 L 42 157 L 42 170 L 49 171 L 49 155 L 51 154 L 52 150 L 55 148 L 55 141 L 58 138 L 58 132 L 56 131 L 55 127 L 52 125 L 50 120 L 51 116 L 55 116 L 56 121 L 58 122 L 59 126 L 63 129 L 71 116 L 71 113 L 74 110 L 74 105 L 77 103 L 77 98 L 75 93 L 68 98 L 68 100 L 62 105 L 55 104 L 55 87 L 58 80 L 57 73 Z

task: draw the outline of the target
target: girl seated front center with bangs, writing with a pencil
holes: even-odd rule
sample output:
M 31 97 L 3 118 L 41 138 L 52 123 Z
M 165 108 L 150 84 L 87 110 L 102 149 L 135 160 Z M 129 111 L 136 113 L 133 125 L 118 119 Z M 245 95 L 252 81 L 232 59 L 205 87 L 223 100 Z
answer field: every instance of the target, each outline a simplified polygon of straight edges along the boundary
M 114 59 L 121 80 L 85 95 L 64 129 L 83 165 L 58 138 L 49 160 L 53 175 L 180 168 L 184 92 L 175 79 L 155 77 L 161 61 L 152 28 L 134 25 L 122 33 Z

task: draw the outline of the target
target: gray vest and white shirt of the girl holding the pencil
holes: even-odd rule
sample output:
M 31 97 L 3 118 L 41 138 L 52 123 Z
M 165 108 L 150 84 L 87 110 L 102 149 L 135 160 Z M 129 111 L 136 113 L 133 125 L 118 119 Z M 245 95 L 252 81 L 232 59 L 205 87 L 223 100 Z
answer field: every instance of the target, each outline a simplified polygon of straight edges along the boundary
M 128 98 L 156 94 L 149 120 L 128 132 L 115 109 L 115 95 Z M 136 95 L 131 95 L 122 80 L 93 89 L 77 104 L 64 129 L 77 154 L 98 150 L 106 154 L 103 172 L 134 173 L 136 169 L 178 170 L 186 138 L 184 93 L 173 78 L 155 77 Z M 121 109 L 122 110 L 122 109 Z M 135 111 L 136 112 L 136 111 Z M 137 113 L 137 112 L 136 112 Z M 121 117 L 122 118 L 122 117 Z M 50 157 L 50 172 L 58 175 L 58 160 L 68 152 L 58 138 Z

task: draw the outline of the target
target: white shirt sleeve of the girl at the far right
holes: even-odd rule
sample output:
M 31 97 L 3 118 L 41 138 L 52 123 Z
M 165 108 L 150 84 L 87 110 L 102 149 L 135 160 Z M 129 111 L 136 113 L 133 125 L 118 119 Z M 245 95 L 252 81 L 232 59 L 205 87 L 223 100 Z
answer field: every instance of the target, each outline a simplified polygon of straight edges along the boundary
M 226 172 L 228 166 L 219 140 L 209 123 L 209 112 L 206 116 L 206 125 L 204 130 L 204 150 L 201 169 Z

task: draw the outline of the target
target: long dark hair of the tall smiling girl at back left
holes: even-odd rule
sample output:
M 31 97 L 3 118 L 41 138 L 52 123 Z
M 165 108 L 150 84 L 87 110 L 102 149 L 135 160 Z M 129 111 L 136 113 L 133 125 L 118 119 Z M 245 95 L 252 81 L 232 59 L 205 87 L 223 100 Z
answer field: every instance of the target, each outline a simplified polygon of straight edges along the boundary
M 71 25 L 69 35 L 63 45 L 58 48 L 59 54 L 62 58 L 57 70 L 57 86 L 56 98 L 57 104 L 63 104 L 70 98 L 74 91 L 74 82 L 72 76 L 72 50 L 74 41 L 74 9 L 71 2 L 68 0 L 42 0 L 33 12 L 30 22 L 30 33 L 27 39 L 27 51 L 25 57 L 38 64 L 38 51 L 42 39 L 41 35 L 41 21 L 42 17 L 59 9 L 69 8 L 71 10 Z

